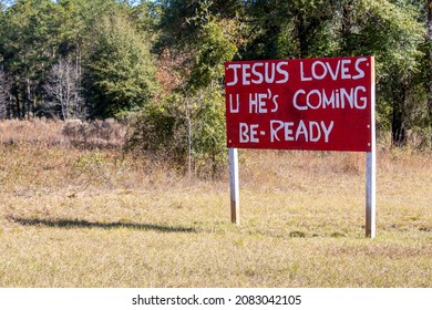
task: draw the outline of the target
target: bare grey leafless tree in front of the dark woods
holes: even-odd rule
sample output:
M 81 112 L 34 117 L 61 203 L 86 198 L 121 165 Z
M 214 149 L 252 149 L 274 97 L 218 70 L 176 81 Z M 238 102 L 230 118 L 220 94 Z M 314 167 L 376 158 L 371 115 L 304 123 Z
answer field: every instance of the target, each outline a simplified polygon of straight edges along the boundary
M 63 120 L 83 117 L 83 100 L 81 96 L 81 76 L 72 61 L 60 59 L 50 72 L 44 89 L 51 97 L 51 106 L 61 107 Z

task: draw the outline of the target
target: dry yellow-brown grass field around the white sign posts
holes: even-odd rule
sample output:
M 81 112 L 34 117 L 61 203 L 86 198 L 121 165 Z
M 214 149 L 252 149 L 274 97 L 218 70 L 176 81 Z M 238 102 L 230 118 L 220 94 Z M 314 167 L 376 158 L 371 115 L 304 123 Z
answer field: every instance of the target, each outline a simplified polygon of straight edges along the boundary
M 2 126 L 0 287 L 432 287 L 430 153 L 379 152 L 370 240 L 363 154 L 241 151 L 234 226 L 227 173 Z

